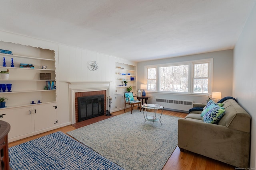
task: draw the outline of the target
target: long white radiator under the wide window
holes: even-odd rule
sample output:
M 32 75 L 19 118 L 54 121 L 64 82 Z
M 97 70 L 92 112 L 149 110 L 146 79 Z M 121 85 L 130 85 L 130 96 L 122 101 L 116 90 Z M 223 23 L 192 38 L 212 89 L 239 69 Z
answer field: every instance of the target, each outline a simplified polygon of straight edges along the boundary
M 156 104 L 160 104 L 167 109 L 188 111 L 193 107 L 194 101 L 191 100 L 175 100 L 156 98 Z

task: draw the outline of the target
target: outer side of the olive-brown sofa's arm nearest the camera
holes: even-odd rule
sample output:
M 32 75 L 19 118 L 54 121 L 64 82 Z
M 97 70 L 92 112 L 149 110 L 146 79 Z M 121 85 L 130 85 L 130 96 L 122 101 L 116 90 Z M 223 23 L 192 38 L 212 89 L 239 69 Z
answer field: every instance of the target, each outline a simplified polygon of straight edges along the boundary
M 226 126 L 181 118 L 178 147 L 237 167 L 249 166 L 250 133 Z

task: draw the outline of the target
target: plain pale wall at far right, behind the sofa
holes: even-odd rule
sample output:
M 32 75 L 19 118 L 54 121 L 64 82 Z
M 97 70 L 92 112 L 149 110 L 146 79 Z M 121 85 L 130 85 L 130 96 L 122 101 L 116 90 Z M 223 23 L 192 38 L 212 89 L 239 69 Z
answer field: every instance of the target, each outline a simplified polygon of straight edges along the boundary
M 250 167 L 256 167 L 256 5 L 234 48 L 233 95 L 251 115 Z

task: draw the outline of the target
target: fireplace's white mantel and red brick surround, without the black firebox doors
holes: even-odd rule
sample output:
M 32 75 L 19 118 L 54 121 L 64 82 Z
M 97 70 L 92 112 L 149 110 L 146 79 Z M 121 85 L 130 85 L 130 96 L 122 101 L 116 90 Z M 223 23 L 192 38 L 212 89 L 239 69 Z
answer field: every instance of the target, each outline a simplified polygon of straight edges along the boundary
M 78 97 L 104 94 L 104 114 L 106 114 L 106 97 L 110 94 L 110 82 L 68 82 L 68 88 L 72 124 L 78 122 Z

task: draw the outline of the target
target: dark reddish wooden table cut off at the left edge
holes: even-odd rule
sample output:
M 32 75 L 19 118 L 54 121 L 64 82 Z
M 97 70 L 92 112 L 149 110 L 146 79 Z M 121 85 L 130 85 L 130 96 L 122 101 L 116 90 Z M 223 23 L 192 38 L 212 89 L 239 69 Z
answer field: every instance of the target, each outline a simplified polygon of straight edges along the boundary
M 0 155 L 1 163 L 0 170 L 12 170 L 9 166 L 8 154 L 8 133 L 10 131 L 10 124 L 6 121 L 0 120 Z

